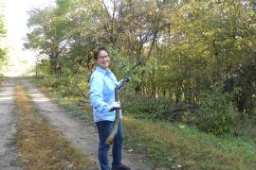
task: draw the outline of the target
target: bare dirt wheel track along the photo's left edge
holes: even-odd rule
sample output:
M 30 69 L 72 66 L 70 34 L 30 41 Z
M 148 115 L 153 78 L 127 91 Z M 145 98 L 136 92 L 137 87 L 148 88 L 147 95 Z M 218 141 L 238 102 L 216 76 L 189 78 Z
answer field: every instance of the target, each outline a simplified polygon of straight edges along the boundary
M 15 83 L 13 79 L 9 79 L 2 85 L 0 91 L 0 169 L 20 170 L 22 168 L 10 165 L 17 159 L 13 144 L 16 131 L 13 117 Z

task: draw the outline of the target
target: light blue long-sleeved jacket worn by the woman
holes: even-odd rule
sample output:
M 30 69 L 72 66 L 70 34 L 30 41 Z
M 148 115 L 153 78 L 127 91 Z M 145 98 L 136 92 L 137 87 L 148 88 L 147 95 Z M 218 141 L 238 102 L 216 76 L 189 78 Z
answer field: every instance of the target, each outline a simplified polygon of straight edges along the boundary
M 90 103 L 93 107 L 94 122 L 115 120 L 116 111 L 108 110 L 115 101 L 115 88 L 118 85 L 117 77 L 109 69 L 96 67 L 90 78 Z

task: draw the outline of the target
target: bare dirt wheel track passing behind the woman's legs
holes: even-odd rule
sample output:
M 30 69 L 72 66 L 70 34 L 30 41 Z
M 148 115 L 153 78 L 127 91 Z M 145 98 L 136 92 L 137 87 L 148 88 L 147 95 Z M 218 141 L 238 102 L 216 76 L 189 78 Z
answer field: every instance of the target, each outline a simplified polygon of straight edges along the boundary
M 70 112 L 50 101 L 45 94 L 37 90 L 28 80 L 22 80 L 31 95 L 32 101 L 38 107 L 39 112 L 46 116 L 46 120 L 56 127 L 67 139 L 82 150 L 85 155 L 97 160 L 98 133 L 94 127 L 86 125 L 75 118 Z M 132 170 L 151 170 L 146 163 L 140 161 L 138 155 L 123 151 L 122 162 L 131 167 Z M 140 156 L 141 157 L 141 156 Z M 111 162 L 111 161 L 110 161 Z

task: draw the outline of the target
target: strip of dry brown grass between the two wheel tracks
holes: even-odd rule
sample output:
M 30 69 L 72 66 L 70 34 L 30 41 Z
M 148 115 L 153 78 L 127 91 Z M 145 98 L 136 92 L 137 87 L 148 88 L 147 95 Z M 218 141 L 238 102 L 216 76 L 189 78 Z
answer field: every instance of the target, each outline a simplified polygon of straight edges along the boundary
M 97 169 L 95 162 L 46 124 L 20 86 L 16 86 L 15 96 L 16 146 L 26 169 Z

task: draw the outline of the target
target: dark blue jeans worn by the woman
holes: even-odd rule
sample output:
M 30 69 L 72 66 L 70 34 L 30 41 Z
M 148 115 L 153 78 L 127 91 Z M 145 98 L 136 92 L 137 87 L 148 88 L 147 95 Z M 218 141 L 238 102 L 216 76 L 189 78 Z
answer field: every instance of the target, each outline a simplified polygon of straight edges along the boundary
M 100 122 L 96 122 L 96 126 L 98 127 L 99 138 L 100 138 L 98 159 L 100 161 L 101 170 L 110 170 L 109 164 L 108 164 L 108 158 L 107 158 L 110 145 L 105 144 L 105 142 L 112 128 L 114 127 L 114 122 L 100 121 Z M 112 167 L 121 166 L 122 141 L 123 141 L 123 134 L 122 134 L 122 127 L 121 127 L 121 120 L 120 120 L 118 134 L 114 138 L 114 143 L 112 148 L 112 156 L 113 156 Z

